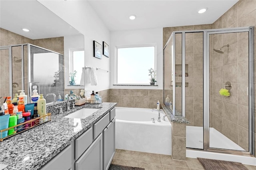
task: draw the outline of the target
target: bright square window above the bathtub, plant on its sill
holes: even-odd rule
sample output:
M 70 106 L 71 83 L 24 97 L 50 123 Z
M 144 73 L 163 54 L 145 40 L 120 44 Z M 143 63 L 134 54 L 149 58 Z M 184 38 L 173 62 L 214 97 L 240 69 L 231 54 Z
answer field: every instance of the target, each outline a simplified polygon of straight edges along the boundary
M 156 44 L 116 47 L 116 84 L 150 83 L 148 70 L 155 69 Z

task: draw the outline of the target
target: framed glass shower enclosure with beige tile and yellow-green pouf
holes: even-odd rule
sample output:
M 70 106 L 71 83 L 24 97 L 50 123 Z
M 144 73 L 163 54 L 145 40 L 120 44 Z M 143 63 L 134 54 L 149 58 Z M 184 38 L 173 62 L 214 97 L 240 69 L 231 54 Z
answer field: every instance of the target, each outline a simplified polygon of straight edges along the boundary
M 164 98 L 186 127 L 186 147 L 254 154 L 254 28 L 172 32 Z

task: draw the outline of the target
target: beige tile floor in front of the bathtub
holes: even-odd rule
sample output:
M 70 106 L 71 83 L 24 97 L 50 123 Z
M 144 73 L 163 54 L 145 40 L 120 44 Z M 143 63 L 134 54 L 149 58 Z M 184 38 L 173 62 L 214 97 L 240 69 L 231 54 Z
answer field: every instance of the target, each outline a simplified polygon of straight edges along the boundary
M 170 155 L 136 152 L 116 149 L 112 164 L 145 168 L 145 170 L 203 170 L 196 158 L 186 158 L 186 161 L 173 160 Z M 244 165 L 248 170 L 256 170 L 256 166 Z

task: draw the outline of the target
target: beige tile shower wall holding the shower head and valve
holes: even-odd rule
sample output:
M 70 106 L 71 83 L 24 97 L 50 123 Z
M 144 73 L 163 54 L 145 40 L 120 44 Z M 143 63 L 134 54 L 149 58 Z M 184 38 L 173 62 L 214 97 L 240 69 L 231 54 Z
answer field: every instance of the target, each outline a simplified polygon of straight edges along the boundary
M 212 24 L 214 29 L 245 26 L 256 26 L 256 0 L 238 1 Z M 256 42 L 255 35 L 254 31 L 254 42 Z M 212 61 L 213 91 L 215 93 L 219 88 L 223 88 L 223 84 L 228 80 L 232 83 L 230 97 L 214 94 L 212 96 L 213 106 L 218 110 L 218 112 L 213 112 L 213 127 L 218 127 L 220 132 L 248 150 L 248 34 L 223 34 L 212 38 L 213 48 L 230 44 L 228 49 L 224 49 L 223 55 L 212 53 L 214 56 Z M 256 56 L 255 46 L 254 56 Z M 218 72 L 222 72 L 223 76 L 217 76 Z

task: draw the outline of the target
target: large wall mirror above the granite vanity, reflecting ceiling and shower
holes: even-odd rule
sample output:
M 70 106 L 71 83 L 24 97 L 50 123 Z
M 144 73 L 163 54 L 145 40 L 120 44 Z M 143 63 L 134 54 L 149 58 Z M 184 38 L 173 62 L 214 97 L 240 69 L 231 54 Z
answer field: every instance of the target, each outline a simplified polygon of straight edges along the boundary
M 22 14 L 22 15 L 21 15 Z M 50 18 L 50 20 L 49 20 Z M 84 49 L 84 35 L 80 34 L 72 26 L 64 22 L 61 18 L 56 16 L 53 12 L 48 10 L 45 6 L 40 4 L 38 1 L 23 1 L 23 0 L 1 0 L 0 1 L 0 26 L 1 26 L 1 44 L 0 46 L 10 46 L 16 44 L 30 43 L 48 49 L 49 51 L 55 51 L 58 54 L 64 55 L 64 86 L 62 88 L 62 94 L 64 95 L 64 89 L 72 89 L 73 86 L 68 86 L 70 77 L 70 64 L 69 56 L 71 49 Z M 30 32 L 22 31 L 22 28 L 27 28 Z M 2 48 L 1 48 L 2 49 Z M 3 52 L 2 52 L 3 51 Z M 0 85 L 4 85 L 3 90 L 0 91 L 0 96 L 9 96 L 10 89 L 12 87 L 17 91 L 24 89 L 25 93 L 28 94 L 28 78 L 24 74 L 24 79 L 21 79 L 22 75 L 22 62 L 18 62 L 21 59 L 22 50 L 21 48 L 16 50 L 11 57 L 12 59 L 12 74 L 9 75 L 9 51 L 4 49 L 0 53 L 0 61 L 3 63 L 4 67 L 1 65 L 1 71 L 4 71 L 4 81 L 0 82 Z M 42 54 L 35 53 L 34 59 L 37 63 L 42 63 Z M 25 56 L 25 55 L 24 55 Z M 51 84 L 54 86 L 57 77 L 55 73 L 59 71 L 60 62 L 55 60 L 56 68 L 53 68 L 53 60 L 46 59 L 47 55 L 44 53 L 45 64 L 41 66 L 42 69 L 36 70 L 38 65 L 34 65 L 35 72 L 33 73 L 38 77 L 33 81 L 42 82 L 47 80 L 42 84 Z M 4 62 L 3 62 L 4 61 Z M 60 60 L 59 60 L 60 61 Z M 40 64 L 41 65 L 41 64 Z M 63 67 L 63 65 L 61 65 Z M 24 73 L 28 71 L 28 61 L 24 57 Z M 52 69 L 50 71 L 50 69 Z M 77 71 L 82 71 L 82 68 L 77 68 Z M 50 72 L 49 72 L 50 71 Z M 49 72 L 46 75 L 46 72 Z M 54 77 L 55 76 L 55 77 Z M 10 78 L 12 77 L 12 78 Z M 56 79 L 55 79 L 56 78 Z M 78 78 L 78 76 L 77 76 Z M 80 79 L 78 78 L 78 83 Z M 56 85 L 56 84 L 55 84 Z M 81 88 L 80 86 L 74 88 Z M 60 88 L 59 88 L 60 89 Z M 40 89 L 41 90 L 41 89 Z M 41 91 L 39 91 L 42 93 Z M 58 98 L 58 93 L 56 91 L 48 91 L 47 93 L 55 93 Z M 64 96 L 62 95 L 62 99 Z M 44 94 L 46 97 L 46 94 Z M 51 97 L 51 96 L 49 96 Z M 47 100 L 46 103 L 52 102 L 52 99 Z

